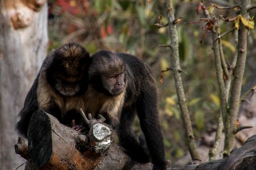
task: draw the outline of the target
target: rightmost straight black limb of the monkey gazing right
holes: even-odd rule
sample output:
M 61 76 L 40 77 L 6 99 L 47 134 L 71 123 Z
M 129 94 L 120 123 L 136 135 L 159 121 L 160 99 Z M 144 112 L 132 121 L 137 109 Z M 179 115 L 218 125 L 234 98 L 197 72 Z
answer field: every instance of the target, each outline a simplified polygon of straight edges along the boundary
M 138 116 L 141 129 L 146 138 L 148 150 L 150 151 L 152 163 L 154 164 L 153 169 L 166 169 L 156 96 L 155 87 L 145 88 L 141 100 L 139 100 Z

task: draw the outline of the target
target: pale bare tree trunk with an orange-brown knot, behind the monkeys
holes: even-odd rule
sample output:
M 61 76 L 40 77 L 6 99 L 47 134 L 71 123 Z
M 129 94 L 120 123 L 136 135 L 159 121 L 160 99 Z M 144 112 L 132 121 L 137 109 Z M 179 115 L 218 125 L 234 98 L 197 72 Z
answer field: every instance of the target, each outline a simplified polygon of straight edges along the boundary
M 46 0 L 0 0 L 0 169 L 26 162 L 15 154 L 14 127 L 47 42 Z

